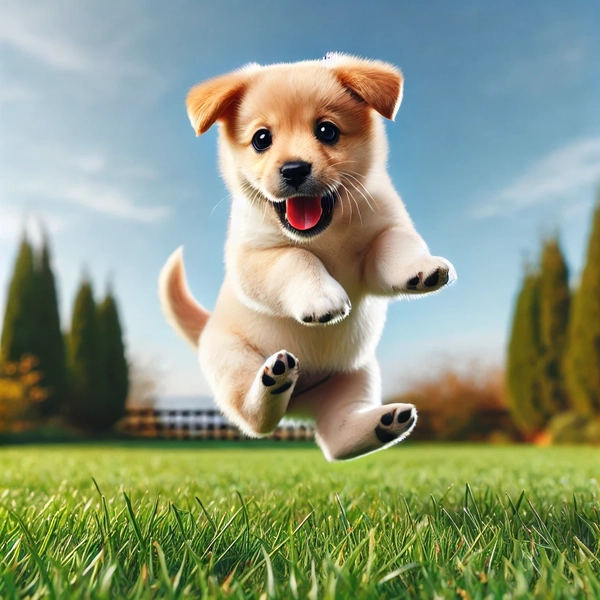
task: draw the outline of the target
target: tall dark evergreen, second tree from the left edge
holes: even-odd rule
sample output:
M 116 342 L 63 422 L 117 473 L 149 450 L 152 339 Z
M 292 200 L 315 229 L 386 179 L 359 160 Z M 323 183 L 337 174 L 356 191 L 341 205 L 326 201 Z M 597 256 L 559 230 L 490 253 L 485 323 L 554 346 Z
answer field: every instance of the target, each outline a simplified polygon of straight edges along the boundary
M 31 351 L 39 359 L 40 385 L 49 393 L 40 405 L 40 413 L 49 417 L 59 414 L 61 404 L 66 401 L 67 365 L 50 249 L 45 237 L 36 271 L 37 335 Z

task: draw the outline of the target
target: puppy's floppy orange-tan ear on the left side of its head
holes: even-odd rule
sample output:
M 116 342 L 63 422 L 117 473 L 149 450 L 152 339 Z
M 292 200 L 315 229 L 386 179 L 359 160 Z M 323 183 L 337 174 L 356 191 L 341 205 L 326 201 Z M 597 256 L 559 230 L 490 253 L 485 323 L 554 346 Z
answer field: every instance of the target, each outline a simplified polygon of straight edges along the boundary
M 236 71 L 193 87 L 186 98 L 188 117 L 196 135 L 208 131 L 248 85 L 248 74 Z

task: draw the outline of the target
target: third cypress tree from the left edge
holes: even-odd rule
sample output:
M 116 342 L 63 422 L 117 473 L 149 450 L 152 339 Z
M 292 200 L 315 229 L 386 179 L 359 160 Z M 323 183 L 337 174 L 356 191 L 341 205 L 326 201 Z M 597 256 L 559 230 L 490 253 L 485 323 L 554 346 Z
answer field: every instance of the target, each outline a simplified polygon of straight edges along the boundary
M 69 335 L 71 385 L 67 415 L 74 425 L 95 433 L 105 429 L 102 354 L 98 311 L 92 286 L 84 279 L 75 298 Z

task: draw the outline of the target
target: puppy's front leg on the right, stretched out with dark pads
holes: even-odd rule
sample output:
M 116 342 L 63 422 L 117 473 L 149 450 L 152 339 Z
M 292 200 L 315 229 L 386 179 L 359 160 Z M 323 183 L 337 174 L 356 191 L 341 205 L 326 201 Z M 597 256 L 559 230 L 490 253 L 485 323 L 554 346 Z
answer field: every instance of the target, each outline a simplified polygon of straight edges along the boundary
M 431 256 L 427 244 L 413 229 L 386 229 L 367 253 L 365 283 L 371 294 L 427 294 L 455 280 L 456 271 L 450 262 Z

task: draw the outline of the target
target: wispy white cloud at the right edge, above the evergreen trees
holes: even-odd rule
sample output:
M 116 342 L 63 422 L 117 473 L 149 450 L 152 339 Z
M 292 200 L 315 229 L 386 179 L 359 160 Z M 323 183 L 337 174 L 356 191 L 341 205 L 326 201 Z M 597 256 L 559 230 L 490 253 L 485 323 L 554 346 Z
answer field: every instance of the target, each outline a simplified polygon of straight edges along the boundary
M 600 137 L 572 142 L 532 165 L 511 185 L 472 211 L 485 219 L 512 216 L 527 208 L 589 195 L 600 183 Z

